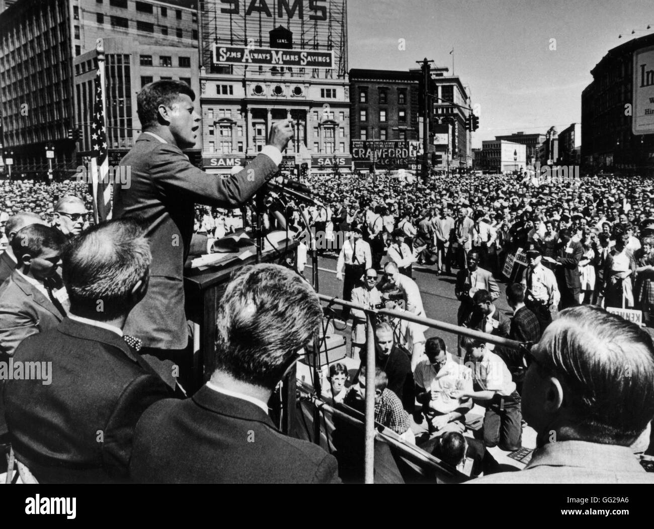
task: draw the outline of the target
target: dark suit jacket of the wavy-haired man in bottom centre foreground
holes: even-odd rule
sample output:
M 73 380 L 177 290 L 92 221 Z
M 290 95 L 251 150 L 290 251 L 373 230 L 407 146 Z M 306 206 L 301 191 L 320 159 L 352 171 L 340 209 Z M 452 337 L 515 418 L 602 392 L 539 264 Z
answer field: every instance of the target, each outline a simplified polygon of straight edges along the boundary
M 142 483 L 338 483 L 336 459 L 285 436 L 256 404 L 207 386 L 148 409 L 134 436 Z

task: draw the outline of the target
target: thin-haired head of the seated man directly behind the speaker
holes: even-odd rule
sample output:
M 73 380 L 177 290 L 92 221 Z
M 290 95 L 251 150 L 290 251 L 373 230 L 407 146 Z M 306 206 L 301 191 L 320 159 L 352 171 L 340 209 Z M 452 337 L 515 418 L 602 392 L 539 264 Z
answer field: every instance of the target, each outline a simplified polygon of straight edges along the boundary
M 62 255 L 71 312 L 99 321 L 127 315 L 145 295 L 151 261 L 137 221 L 109 221 L 73 238 Z

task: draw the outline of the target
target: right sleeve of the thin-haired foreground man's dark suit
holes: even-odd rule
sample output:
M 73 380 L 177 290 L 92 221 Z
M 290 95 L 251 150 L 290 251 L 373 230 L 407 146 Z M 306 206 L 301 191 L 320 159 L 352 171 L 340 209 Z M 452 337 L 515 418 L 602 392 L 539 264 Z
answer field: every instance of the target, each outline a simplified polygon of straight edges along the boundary
M 155 375 L 141 375 L 129 383 L 118 398 L 104 430 L 102 459 L 109 475 L 128 475 L 136 423 L 151 404 L 171 396 L 171 389 Z

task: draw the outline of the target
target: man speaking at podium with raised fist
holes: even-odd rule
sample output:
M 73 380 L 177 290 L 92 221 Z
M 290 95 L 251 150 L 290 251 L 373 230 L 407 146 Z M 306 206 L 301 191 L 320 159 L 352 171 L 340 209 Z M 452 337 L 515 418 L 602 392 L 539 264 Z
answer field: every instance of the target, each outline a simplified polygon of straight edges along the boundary
M 207 253 L 207 239 L 193 234 L 196 203 L 237 208 L 247 202 L 277 172 L 281 152 L 293 136 L 292 122 L 279 121 L 268 144 L 240 172 L 224 179 L 207 174 L 182 152 L 198 136 L 201 118 L 194 110 L 195 97 L 177 80 L 143 87 L 137 97 L 143 133 L 120 162 L 131 167 L 131 182 L 124 189 L 114 184 L 113 217 L 140 217 L 152 251 L 148 293 L 129 314 L 125 332 L 143 341 L 142 353 L 175 362 L 188 344 L 184 261 L 191 246 Z

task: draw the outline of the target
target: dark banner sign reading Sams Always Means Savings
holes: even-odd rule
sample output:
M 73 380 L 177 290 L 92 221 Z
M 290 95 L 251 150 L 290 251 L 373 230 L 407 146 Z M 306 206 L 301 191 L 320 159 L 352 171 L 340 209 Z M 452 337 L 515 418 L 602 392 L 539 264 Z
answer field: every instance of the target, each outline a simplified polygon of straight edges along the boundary
M 281 50 L 254 46 L 222 46 L 213 48 L 215 64 L 256 64 L 305 68 L 334 68 L 334 52 L 318 50 Z

